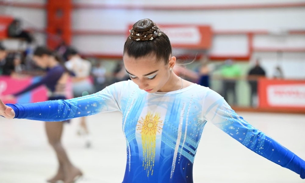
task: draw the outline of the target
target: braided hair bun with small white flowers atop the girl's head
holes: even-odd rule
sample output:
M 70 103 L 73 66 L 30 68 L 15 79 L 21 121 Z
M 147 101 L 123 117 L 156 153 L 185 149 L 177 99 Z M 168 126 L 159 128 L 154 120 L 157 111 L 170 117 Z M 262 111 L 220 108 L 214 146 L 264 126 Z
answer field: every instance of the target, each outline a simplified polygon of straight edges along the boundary
M 139 20 L 129 32 L 129 38 L 135 41 L 152 41 L 162 34 L 159 27 L 150 19 Z

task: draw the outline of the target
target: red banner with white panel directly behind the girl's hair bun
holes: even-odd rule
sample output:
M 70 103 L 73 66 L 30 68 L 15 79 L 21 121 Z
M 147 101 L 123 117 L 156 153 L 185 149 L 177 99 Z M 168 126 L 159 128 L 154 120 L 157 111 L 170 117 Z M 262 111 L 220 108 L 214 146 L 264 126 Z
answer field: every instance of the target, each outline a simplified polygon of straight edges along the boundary
M 208 25 L 160 25 L 173 47 L 191 49 L 209 49 L 212 45 L 212 30 Z M 129 25 L 129 29 L 132 25 Z M 129 35 L 129 29 L 127 35 Z

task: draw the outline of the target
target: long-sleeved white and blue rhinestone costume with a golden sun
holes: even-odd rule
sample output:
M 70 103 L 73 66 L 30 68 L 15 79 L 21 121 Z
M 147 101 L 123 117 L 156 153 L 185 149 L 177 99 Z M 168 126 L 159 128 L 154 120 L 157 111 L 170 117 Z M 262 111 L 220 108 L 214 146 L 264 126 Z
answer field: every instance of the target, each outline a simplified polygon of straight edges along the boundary
M 147 93 L 129 80 L 79 98 L 8 106 L 16 118 L 42 121 L 122 112 L 127 144 L 123 183 L 192 183 L 194 157 L 206 122 L 305 178 L 304 160 L 248 124 L 215 91 L 198 84 Z

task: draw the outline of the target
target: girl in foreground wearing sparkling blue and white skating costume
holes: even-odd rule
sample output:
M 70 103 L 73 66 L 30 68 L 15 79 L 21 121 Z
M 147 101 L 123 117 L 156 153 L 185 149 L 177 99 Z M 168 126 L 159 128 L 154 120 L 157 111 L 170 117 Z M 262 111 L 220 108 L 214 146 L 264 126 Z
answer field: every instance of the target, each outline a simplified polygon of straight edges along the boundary
M 170 40 L 149 19 L 139 20 L 124 45 L 131 80 L 69 100 L 0 105 L 6 118 L 59 121 L 121 111 L 127 142 L 123 183 L 192 183 L 192 168 L 209 121 L 250 150 L 305 178 L 305 161 L 237 115 L 215 91 L 173 72 Z

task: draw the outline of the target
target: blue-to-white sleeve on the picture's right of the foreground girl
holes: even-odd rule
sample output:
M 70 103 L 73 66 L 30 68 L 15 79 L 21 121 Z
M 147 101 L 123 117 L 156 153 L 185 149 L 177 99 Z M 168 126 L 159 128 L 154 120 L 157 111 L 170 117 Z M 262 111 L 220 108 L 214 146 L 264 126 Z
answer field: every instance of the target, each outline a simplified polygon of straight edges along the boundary
M 215 91 L 204 101 L 204 118 L 253 152 L 305 178 L 305 161 L 238 116 Z

